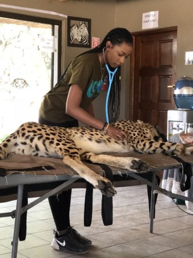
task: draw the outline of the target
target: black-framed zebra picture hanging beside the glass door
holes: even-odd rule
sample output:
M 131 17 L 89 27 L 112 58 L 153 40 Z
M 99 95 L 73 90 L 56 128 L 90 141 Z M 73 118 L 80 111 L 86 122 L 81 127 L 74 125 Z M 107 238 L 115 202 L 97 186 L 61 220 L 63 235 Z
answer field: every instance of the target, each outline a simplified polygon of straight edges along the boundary
M 67 46 L 91 47 L 91 19 L 68 16 Z

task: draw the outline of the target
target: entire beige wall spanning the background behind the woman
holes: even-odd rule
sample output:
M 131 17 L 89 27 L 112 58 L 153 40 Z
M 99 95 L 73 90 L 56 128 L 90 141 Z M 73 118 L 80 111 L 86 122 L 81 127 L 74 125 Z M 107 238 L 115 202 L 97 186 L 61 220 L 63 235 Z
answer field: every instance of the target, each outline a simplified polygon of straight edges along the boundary
M 16 4 L 17 3 L 17 4 Z M 193 0 L 83 0 L 62 3 L 53 0 L 0 0 L 0 4 L 48 10 L 69 16 L 91 19 L 91 36 L 103 39 L 114 27 L 125 27 L 131 32 L 142 30 L 142 14 L 159 11 L 159 28 L 177 26 L 177 78 L 193 77 L 192 66 L 184 65 L 185 51 L 193 51 Z M 36 15 L 62 20 L 61 17 L 41 15 L 26 11 L 1 9 L 22 14 Z M 65 19 L 64 19 L 65 20 Z M 66 47 L 65 28 L 63 29 L 63 70 L 68 62 L 86 48 Z M 129 60 L 122 67 L 122 92 L 120 119 L 128 118 L 129 106 Z M 105 119 L 105 98 L 102 92 L 94 101 L 96 116 Z

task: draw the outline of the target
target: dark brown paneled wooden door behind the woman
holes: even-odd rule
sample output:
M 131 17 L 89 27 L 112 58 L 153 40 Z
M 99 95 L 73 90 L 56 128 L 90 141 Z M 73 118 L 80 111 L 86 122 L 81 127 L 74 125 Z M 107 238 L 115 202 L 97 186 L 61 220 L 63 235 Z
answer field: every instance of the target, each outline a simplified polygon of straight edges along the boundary
M 167 133 L 167 110 L 174 109 L 177 27 L 133 33 L 130 119 L 140 119 Z

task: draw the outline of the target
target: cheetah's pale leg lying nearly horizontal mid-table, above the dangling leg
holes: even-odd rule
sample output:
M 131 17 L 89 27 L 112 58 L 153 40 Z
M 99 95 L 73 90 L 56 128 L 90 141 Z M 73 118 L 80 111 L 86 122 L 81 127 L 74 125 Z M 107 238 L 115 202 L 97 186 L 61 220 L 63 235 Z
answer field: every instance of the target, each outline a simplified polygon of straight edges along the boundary
M 109 166 L 125 168 L 135 172 L 146 171 L 148 169 L 148 164 L 146 162 L 133 157 L 116 157 L 112 155 L 85 153 L 81 158 L 89 160 L 92 163 L 101 163 Z

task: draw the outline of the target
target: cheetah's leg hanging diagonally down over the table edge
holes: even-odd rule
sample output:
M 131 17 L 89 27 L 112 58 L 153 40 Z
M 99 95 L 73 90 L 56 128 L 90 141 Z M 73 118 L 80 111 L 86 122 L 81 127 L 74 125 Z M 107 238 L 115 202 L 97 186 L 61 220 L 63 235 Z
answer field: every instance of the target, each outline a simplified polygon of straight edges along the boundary
M 78 158 L 72 159 L 69 156 L 64 156 L 63 162 L 74 169 L 82 178 L 91 183 L 94 187 L 101 190 L 104 195 L 114 196 L 117 191 L 111 181 L 99 174 L 96 174 L 90 168 L 85 166 Z

